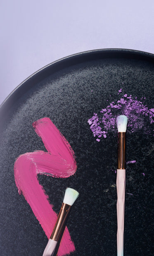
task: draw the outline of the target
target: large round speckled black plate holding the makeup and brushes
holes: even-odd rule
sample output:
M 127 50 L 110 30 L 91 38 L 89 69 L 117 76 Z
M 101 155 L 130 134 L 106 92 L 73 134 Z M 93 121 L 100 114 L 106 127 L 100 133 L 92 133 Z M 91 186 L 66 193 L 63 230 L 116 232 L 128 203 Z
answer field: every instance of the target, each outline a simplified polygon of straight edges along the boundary
M 128 95 L 146 97 L 147 106 L 154 107 L 154 55 L 131 50 L 74 55 L 40 70 L 1 106 L 1 256 L 41 256 L 47 244 L 14 182 L 15 159 L 45 150 L 32 127 L 42 117 L 50 117 L 69 141 L 78 165 L 76 175 L 67 179 L 38 176 L 57 213 L 67 186 L 80 193 L 67 223 L 76 247 L 70 256 L 116 255 L 116 174 L 112 170 L 116 170 L 117 138 L 109 134 L 98 143 L 87 121 L 107 106 L 107 99 L 116 100 L 120 88 Z M 128 134 L 127 161 L 136 160 L 136 164 L 128 165 L 126 171 L 127 256 L 154 255 L 153 152 L 152 134 L 142 130 Z

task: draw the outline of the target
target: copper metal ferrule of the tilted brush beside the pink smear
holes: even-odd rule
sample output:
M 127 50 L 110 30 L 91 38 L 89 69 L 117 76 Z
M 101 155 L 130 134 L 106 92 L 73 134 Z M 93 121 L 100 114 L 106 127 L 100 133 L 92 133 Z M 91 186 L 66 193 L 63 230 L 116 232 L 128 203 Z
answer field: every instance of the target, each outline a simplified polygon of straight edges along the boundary
M 67 216 L 69 214 L 69 211 L 71 209 L 71 206 L 69 204 L 63 203 L 62 208 L 60 209 L 60 213 L 57 218 L 57 222 L 54 225 L 54 230 L 51 234 L 50 239 L 58 241 L 59 236 L 64 228 L 64 225 L 66 223 Z

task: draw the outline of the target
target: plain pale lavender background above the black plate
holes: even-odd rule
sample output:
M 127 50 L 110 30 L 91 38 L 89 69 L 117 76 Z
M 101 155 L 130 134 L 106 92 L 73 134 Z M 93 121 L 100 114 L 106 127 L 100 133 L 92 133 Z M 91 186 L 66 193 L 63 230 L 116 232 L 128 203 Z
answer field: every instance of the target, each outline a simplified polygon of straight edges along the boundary
M 1 0 L 0 104 L 41 67 L 99 48 L 154 53 L 154 1 Z

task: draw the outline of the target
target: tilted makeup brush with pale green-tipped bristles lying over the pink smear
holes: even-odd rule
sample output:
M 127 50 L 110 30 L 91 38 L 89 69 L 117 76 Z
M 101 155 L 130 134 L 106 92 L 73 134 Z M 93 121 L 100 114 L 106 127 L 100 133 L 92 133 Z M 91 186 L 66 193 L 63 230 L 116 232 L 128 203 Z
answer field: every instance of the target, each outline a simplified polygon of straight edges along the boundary
M 56 224 L 54 225 L 51 237 L 47 243 L 47 246 L 45 247 L 43 256 L 52 256 L 54 254 L 54 250 L 57 246 L 57 242 L 62 233 L 62 230 L 66 224 L 66 219 L 71 209 L 71 206 L 76 201 L 78 196 L 79 193 L 75 189 L 66 188 L 62 207 L 60 209 Z

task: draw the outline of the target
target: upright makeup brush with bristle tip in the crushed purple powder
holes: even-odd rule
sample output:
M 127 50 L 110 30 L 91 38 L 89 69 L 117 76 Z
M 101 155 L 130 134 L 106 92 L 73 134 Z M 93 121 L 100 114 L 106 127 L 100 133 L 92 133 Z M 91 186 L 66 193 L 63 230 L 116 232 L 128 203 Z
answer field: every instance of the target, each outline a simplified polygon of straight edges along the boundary
M 123 256 L 125 190 L 126 190 L 126 129 L 128 118 L 119 115 L 116 118 L 118 128 L 118 164 L 116 174 L 117 189 L 117 256 Z

